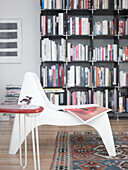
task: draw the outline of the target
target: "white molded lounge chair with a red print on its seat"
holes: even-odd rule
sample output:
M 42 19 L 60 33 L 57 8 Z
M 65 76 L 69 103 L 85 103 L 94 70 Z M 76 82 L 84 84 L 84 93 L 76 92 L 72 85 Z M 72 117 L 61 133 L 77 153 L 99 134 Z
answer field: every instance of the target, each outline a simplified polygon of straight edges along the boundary
M 109 156 L 115 156 L 115 145 L 112 135 L 112 130 L 107 112 L 103 112 L 87 121 L 75 116 L 72 113 L 58 111 L 65 108 L 83 108 L 97 105 L 66 105 L 56 106 L 51 104 L 48 100 L 40 81 L 35 73 L 28 72 L 25 74 L 19 101 L 26 96 L 32 97 L 31 104 L 39 105 L 44 108 L 44 111 L 37 116 L 36 125 L 56 125 L 56 126 L 76 126 L 76 125 L 90 125 L 100 134 L 103 143 L 107 149 Z M 26 136 L 24 134 L 24 116 L 21 117 L 21 143 L 19 144 L 19 121 L 16 115 L 13 125 L 13 131 L 10 141 L 9 154 L 16 154 L 20 145 L 23 143 L 25 137 L 35 128 L 35 124 L 31 125 L 31 119 L 26 117 Z

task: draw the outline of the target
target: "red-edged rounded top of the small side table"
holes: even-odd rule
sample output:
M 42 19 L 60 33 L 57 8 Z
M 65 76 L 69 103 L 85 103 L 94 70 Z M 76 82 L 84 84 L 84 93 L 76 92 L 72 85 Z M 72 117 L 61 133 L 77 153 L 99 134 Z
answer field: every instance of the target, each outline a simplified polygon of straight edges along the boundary
M 43 107 L 35 105 L 0 105 L 0 112 L 2 113 L 29 114 L 40 113 L 43 110 Z

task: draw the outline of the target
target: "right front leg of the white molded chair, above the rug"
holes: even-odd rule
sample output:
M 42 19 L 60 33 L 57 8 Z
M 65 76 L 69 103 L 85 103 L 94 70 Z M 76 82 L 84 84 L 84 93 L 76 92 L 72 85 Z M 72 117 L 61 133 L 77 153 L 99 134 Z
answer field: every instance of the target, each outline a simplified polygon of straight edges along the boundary
M 93 120 L 90 120 L 87 124 L 94 127 L 100 134 L 109 156 L 116 156 L 115 144 L 108 114 L 106 113 Z

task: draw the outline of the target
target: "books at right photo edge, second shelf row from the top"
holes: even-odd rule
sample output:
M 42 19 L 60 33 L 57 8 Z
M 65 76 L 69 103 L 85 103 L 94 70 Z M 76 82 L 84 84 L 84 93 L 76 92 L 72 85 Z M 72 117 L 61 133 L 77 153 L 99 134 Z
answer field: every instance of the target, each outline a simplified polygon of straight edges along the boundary
M 119 21 L 119 35 L 128 35 L 128 19 Z

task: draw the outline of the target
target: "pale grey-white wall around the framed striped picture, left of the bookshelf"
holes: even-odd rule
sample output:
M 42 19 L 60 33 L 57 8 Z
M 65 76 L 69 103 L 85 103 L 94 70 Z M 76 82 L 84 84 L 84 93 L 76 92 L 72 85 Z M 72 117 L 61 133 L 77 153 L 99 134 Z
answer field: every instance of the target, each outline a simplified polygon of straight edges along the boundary
M 7 84 L 22 84 L 27 71 L 39 74 L 39 0 L 0 0 L 0 19 L 21 19 L 22 63 L 0 64 L 0 103 Z

